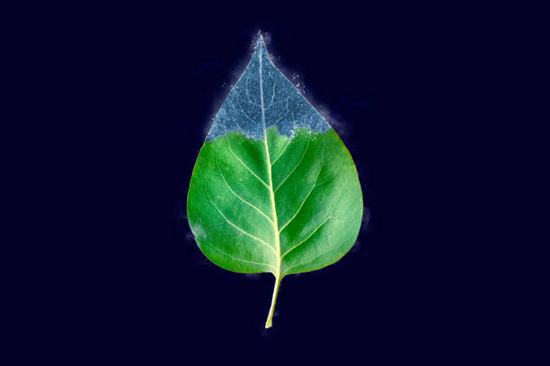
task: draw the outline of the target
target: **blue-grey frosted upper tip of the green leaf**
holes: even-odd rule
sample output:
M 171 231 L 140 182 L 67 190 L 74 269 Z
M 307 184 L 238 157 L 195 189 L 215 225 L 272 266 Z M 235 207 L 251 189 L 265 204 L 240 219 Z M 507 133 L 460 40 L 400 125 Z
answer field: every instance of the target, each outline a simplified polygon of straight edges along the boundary
M 297 127 L 321 133 L 331 128 L 273 65 L 260 36 L 250 63 L 217 112 L 207 141 L 228 131 L 260 140 L 270 126 L 276 126 L 280 135 L 288 136 Z

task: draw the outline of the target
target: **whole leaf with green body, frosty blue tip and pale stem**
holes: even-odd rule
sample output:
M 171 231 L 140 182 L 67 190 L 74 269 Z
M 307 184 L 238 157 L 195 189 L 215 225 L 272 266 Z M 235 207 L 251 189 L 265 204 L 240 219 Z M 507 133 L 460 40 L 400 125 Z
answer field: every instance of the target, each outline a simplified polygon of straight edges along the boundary
M 200 250 L 229 271 L 287 274 L 338 261 L 357 239 L 363 204 L 350 153 L 272 64 L 262 36 L 219 109 L 187 198 Z

